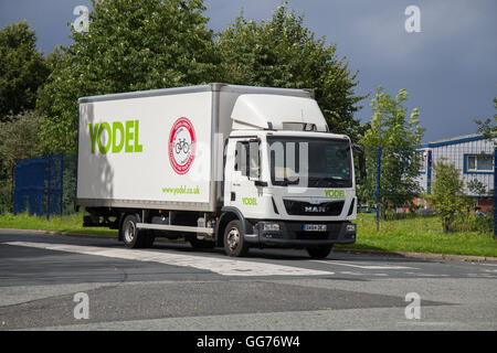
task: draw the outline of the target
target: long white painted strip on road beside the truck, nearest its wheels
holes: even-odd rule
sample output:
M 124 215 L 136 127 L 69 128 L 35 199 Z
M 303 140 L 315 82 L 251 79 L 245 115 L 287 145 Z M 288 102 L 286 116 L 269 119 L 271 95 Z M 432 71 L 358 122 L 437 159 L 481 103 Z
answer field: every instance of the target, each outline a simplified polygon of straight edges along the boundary
M 68 244 L 11 242 L 3 243 L 13 246 L 27 246 L 47 250 L 59 250 L 75 254 L 105 256 L 127 260 L 152 261 L 171 266 L 193 267 L 209 270 L 223 276 L 329 276 L 331 271 L 283 266 L 268 263 L 255 263 L 233 258 L 216 258 L 211 256 L 191 256 L 157 250 L 134 250 L 121 248 L 103 248 L 96 246 L 80 246 Z

